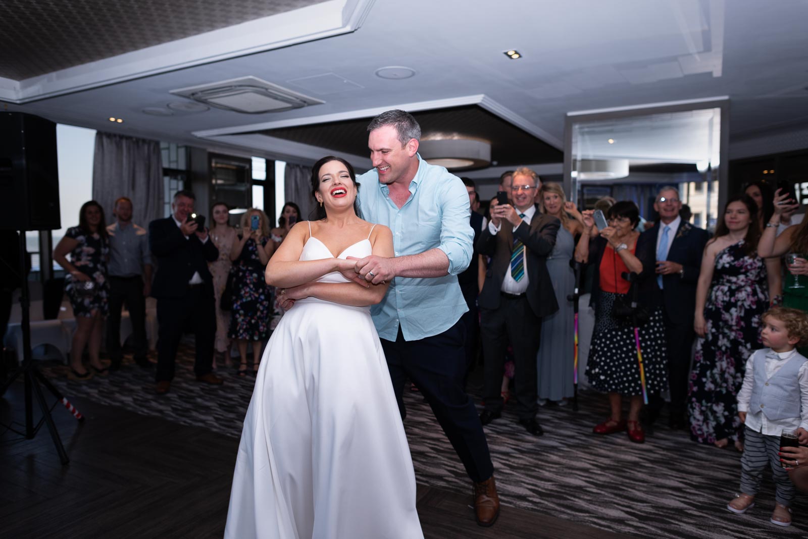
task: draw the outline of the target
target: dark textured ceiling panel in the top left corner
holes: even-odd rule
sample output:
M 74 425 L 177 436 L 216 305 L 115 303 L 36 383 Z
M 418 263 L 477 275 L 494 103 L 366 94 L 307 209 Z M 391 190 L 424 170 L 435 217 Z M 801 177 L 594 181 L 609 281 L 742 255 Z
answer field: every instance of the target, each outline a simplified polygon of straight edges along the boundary
M 0 77 L 23 80 L 324 0 L 3 0 Z

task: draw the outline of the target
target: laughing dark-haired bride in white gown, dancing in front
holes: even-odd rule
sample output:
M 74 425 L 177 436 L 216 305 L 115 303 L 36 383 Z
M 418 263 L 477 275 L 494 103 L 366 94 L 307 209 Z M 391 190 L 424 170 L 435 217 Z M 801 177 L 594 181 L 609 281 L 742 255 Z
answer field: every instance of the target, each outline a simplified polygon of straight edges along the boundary
M 370 317 L 387 286 L 351 282 L 347 260 L 392 257 L 393 236 L 357 216 L 346 161 L 318 161 L 312 186 L 325 218 L 296 224 L 267 265 L 267 282 L 294 305 L 263 353 L 225 539 L 423 537 L 410 448 Z

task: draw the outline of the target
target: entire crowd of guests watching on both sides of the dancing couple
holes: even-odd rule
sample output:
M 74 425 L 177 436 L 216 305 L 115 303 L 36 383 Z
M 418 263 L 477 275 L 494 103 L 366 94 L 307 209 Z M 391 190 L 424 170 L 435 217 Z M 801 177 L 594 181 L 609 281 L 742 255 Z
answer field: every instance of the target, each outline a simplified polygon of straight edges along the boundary
M 576 269 L 588 266 L 595 327 L 586 375 L 610 407 L 593 431 L 625 432 L 642 443 L 667 402 L 671 428 L 743 451 L 742 494 L 727 508 L 751 507 L 770 462 L 777 490 L 772 523 L 788 525 L 794 485 L 808 487 L 808 448 L 780 449 L 783 430 L 808 444 L 808 360 L 797 351 L 808 345 L 808 221 L 795 215 L 790 195 L 750 184 L 730 197 L 710 237 L 689 223 L 671 186 L 659 190 L 659 217 L 650 223 L 631 201 L 604 198 L 595 210 L 579 211 L 561 186 L 542 184 L 527 168 L 503 174 L 499 190 L 507 200 L 494 198 L 484 216 L 473 181 L 463 182 L 474 255 L 458 281 L 469 307 L 462 319 L 467 371 L 478 343 L 482 350 L 482 424 L 501 417 L 512 399 L 520 424 L 541 436 L 539 405 L 574 396 L 573 293 L 586 274 Z M 188 328 L 196 336 L 200 382 L 222 383 L 213 371 L 230 366 L 233 343 L 238 374 L 258 370 L 272 321 L 283 314 L 264 269 L 301 219 L 300 209 L 286 203 L 271 228 L 267 215 L 253 208 L 234 228 L 229 207 L 217 203 L 208 229 L 189 217 L 194 204 L 190 191 L 179 191 L 172 215 L 148 231 L 132 222 L 128 198 L 116 201 L 109 226 L 99 203 L 82 206 L 78 226 L 54 251 L 77 320 L 72 378 L 120 368 L 124 303 L 134 360 L 153 365 L 146 357 L 149 295 L 158 299 L 158 394 L 170 390 Z M 108 368 L 99 359 L 105 318 Z

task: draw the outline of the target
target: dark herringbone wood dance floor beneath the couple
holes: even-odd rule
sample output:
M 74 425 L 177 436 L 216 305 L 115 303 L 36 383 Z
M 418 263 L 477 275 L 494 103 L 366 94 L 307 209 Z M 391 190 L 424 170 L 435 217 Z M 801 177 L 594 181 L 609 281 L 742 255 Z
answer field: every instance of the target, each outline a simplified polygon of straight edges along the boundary
M 3 423 L 13 419 L 20 427 L 22 395 L 23 385 L 15 383 L 0 399 Z M 60 465 L 44 427 L 31 441 L 10 431 L 0 436 L 0 537 L 222 536 L 238 439 L 88 399 L 73 402 L 86 416 L 83 424 L 61 405 L 53 409 L 68 466 Z M 419 485 L 424 535 L 629 537 L 510 507 L 483 529 L 469 501 L 466 493 Z

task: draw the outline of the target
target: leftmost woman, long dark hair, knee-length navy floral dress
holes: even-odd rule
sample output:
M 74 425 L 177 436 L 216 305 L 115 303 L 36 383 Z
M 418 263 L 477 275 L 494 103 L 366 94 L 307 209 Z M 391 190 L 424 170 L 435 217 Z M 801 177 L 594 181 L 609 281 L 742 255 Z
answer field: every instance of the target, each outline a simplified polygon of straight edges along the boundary
M 67 260 L 67 255 L 70 260 Z M 89 380 L 107 374 L 101 365 L 99 349 L 103 319 L 107 316 L 107 260 L 109 242 L 103 208 L 95 200 L 84 203 L 78 212 L 78 227 L 68 228 L 53 249 L 53 260 L 65 269 L 65 292 L 76 317 L 76 332 L 70 347 L 71 378 Z M 90 370 L 82 364 L 84 348 L 90 354 Z

